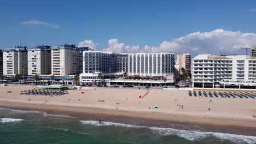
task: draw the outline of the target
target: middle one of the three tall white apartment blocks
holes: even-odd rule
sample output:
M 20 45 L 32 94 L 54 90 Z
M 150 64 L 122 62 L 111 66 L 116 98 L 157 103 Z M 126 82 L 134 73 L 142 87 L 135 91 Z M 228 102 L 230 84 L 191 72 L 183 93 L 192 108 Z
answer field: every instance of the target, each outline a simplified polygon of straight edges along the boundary
M 40 45 L 27 50 L 28 75 L 51 74 L 50 46 Z

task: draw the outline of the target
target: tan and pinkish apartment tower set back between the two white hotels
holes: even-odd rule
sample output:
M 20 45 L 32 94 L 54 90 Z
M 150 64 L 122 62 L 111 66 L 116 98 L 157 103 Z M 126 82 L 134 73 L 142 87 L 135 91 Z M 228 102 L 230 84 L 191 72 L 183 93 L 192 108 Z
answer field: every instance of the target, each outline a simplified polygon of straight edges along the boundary
M 178 68 L 179 75 L 182 74 L 182 68 L 185 69 L 187 75 L 191 77 L 191 56 L 190 53 L 184 53 L 177 55 L 176 67 Z

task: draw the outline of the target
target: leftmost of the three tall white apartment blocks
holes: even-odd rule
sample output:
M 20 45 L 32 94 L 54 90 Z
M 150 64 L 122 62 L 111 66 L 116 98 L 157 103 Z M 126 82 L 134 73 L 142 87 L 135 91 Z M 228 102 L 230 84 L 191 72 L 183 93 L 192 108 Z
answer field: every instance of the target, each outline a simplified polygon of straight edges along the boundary
M 27 75 L 27 47 L 15 46 L 3 51 L 3 74 Z

